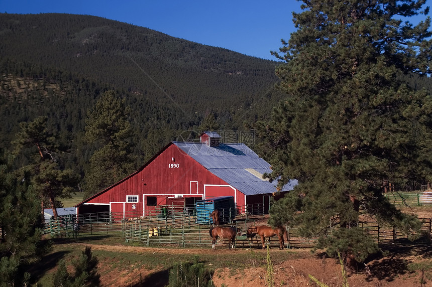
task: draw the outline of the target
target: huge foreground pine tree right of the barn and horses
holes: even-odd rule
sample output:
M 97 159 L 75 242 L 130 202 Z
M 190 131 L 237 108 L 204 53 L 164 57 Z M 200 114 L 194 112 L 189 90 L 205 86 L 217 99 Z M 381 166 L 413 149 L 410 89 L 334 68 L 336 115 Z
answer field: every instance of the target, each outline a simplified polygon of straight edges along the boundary
M 298 30 L 274 52 L 286 61 L 276 73 L 288 97 L 257 124 L 272 164 L 266 176 L 279 188 L 299 181 L 270 223 L 320 236 L 317 248 L 341 252 L 353 269 L 377 250 L 358 227 L 360 211 L 406 233 L 420 226 L 383 192 L 431 177 L 432 98 L 400 80 L 431 72 L 430 19 L 398 20 L 428 8 L 424 0 L 303 2 L 293 14 Z

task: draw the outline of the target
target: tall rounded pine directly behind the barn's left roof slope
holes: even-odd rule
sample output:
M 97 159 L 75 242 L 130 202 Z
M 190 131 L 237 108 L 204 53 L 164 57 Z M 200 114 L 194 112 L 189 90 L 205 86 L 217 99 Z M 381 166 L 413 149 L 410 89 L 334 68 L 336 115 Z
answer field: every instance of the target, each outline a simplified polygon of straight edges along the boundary
M 130 107 L 125 99 L 115 97 L 113 91 L 101 95 L 85 120 L 85 139 L 96 147 L 85 171 L 84 192 L 91 196 L 123 179 L 135 169 L 128 121 Z

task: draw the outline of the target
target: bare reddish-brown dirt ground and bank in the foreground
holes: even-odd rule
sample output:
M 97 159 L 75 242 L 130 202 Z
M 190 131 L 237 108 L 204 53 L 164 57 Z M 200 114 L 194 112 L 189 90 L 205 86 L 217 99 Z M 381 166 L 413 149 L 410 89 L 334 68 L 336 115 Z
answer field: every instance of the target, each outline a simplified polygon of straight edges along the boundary
M 432 209 L 403 209 L 404 212 L 415 213 L 419 218 L 432 217 Z M 266 223 L 266 219 L 258 220 L 256 224 Z M 84 243 L 74 243 L 83 244 Z M 249 248 L 237 248 L 229 250 L 228 248 L 163 248 L 163 247 L 134 247 L 134 246 L 113 246 L 85 244 L 92 250 L 108 250 L 148 254 L 160 254 L 160 256 L 170 256 L 173 254 L 228 254 L 231 252 L 251 252 Z M 387 250 L 386 256 L 370 258 L 366 261 L 366 266 L 356 273 L 348 274 L 348 283 L 350 287 L 356 286 L 388 286 L 388 287 L 410 287 L 410 286 L 431 286 L 432 287 L 432 268 L 420 267 L 416 271 L 409 271 L 408 266 L 418 264 L 418 266 L 432 266 L 432 245 L 430 242 L 421 244 L 412 244 L 410 242 L 401 242 L 396 245 L 390 244 L 384 247 Z M 254 249 L 255 252 L 267 254 L 267 250 Z M 287 252 L 287 250 L 271 250 L 271 256 L 277 256 L 277 252 Z M 293 252 L 292 260 L 282 261 L 273 264 L 273 282 L 274 286 L 316 286 L 309 278 L 309 274 L 319 281 L 326 283 L 328 286 L 342 286 L 343 278 L 341 274 L 341 265 L 335 258 L 323 258 L 316 253 L 311 253 L 307 248 L 289 249 Z M 246 257 L 246 256 L 245 256 Z M 218 257 L 219 258 L 219 257 Z M 99 262 L 98 269 L 101 274 L 103 286 L 164 286 L 168 271 L 166 268 L 146 268 L 123 270 L 120 274 L 114 272 L 103 272 L 104 268 L 109 270 L 111 262 Z M 211 268 L 211 263 L 206 262 Z M 421 270 L 423 269 L 423 270 Z M 215 286 L 243 287 L 243 286 L 268 286 L 266 281 L 268 274 L 267 268 L 260 263 L 259 266 L 247 269 L 238 268 L 217 268 L 214 271 L 213 282 Z M 145 282 L 139 283 L 139 282 Z

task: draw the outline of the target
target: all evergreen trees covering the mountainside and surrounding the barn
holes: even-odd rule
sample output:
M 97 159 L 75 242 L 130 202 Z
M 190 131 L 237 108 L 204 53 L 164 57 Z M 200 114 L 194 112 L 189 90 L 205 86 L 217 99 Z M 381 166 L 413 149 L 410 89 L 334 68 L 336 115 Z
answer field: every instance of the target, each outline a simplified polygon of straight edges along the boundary
M 27 285 L 50 251 L 42 207 L 57 217 L 62 198 L 203 130 L 230 142 L 256 131 L 247 144 L 272 165 L 264 177 L 279 191 L 298 180 L 268 223 L 317 236 L 344 268 L 380 251 L 362 218 L 416 239 L 421 222 L 384 193 L 432 182 L 431 20 L 397 19 L 427 16 L 424 4 L 303 0 L 280 61 L 99 17 L 0 14 L 0 285 Z M 77 269 L 97 264 L 89 248 L 80 258 Z M 61 262 L 55 282 L 97 285 L 90 275 Z

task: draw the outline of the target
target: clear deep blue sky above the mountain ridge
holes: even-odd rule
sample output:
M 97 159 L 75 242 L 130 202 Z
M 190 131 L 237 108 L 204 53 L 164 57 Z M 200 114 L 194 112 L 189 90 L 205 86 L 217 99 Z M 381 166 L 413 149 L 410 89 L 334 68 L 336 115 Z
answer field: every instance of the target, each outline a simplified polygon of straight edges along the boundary
M 0 12 L 100 16 L 275 60 L 270 51 L 277 51 L 282 46 L 280 40 L 288 40 L 295 31 L 291 12 L 300 12 L 300 4 L 294 0 L 0 0 Z M 432 6 L 432 0 L 427 0 L 427 5 Z

